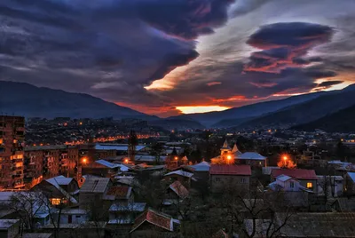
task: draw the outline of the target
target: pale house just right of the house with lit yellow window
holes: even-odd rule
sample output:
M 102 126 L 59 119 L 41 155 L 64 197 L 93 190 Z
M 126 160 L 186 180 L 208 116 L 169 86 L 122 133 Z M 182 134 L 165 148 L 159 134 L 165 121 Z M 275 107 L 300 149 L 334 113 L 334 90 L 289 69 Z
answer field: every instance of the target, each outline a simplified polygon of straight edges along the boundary
M 342 176 L 317 176 L 318 195 L 327 195 L 339 197 L 343 195 L 343 177 Z

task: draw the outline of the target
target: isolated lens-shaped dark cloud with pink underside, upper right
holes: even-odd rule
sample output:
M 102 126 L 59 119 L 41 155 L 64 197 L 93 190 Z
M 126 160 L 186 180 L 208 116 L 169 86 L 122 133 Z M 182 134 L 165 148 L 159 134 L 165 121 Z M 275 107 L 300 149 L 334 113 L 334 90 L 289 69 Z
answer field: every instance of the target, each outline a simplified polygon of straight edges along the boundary
M 261 27 L 247 44 L 261 49 L 253 52 L 245 71 L 280 73 L 287 67 L 300 67 L 310 62 L 302 59 L 314 46 L 330 41 L 334 30 L 305 22 L 282 22 Z

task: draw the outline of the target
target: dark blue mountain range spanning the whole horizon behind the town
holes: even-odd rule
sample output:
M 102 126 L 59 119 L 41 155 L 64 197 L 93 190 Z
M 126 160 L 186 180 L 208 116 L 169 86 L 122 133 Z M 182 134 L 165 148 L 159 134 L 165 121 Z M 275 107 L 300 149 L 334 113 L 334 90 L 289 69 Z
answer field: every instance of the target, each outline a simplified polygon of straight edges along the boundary
M 338 127 L 340 125 L 336 125 L 337 118 L 353 116 L 354 92 L 355 84 L 352 84 L 338 91 L 318 91 L 287 99 L 233 107 L 221 112 L 177 115 L 162 119 L 84 93 L 36 87 L 28 83 L 0 81 L 0 114 L 46 118 L 112 116 L 115 119 L 143 119 L 151 125 L 161 125 L 165 128 L 196 129 L 293 126 L 298 130 L 302 128 L 326 130 L 327 125 L 331 124 L 336 131 L 341 128 Z M 329 131 L 332 130 L 329 128 Z

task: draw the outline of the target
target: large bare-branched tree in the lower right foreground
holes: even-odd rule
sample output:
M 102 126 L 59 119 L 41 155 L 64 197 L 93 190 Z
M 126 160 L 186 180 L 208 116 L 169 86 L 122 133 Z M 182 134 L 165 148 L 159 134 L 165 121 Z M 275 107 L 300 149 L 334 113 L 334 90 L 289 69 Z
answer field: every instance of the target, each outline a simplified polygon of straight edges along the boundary
M 225 184 L 222 206 L 231 234 L 239 232 L 245 237 L 279 237 L 282 227 L 294 214 L 281 191 L 264 192 L 258 186 L 237 190 Z M 282 214 L 282 215 L 280 215 Z

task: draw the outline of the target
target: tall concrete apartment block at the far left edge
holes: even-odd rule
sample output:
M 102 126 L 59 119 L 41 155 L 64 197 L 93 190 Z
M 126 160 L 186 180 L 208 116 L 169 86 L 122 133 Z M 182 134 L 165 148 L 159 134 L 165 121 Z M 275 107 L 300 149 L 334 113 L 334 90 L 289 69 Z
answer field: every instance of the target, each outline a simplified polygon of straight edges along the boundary
M 0 115 L 0 189 L 22 188 L 25 118 Z

